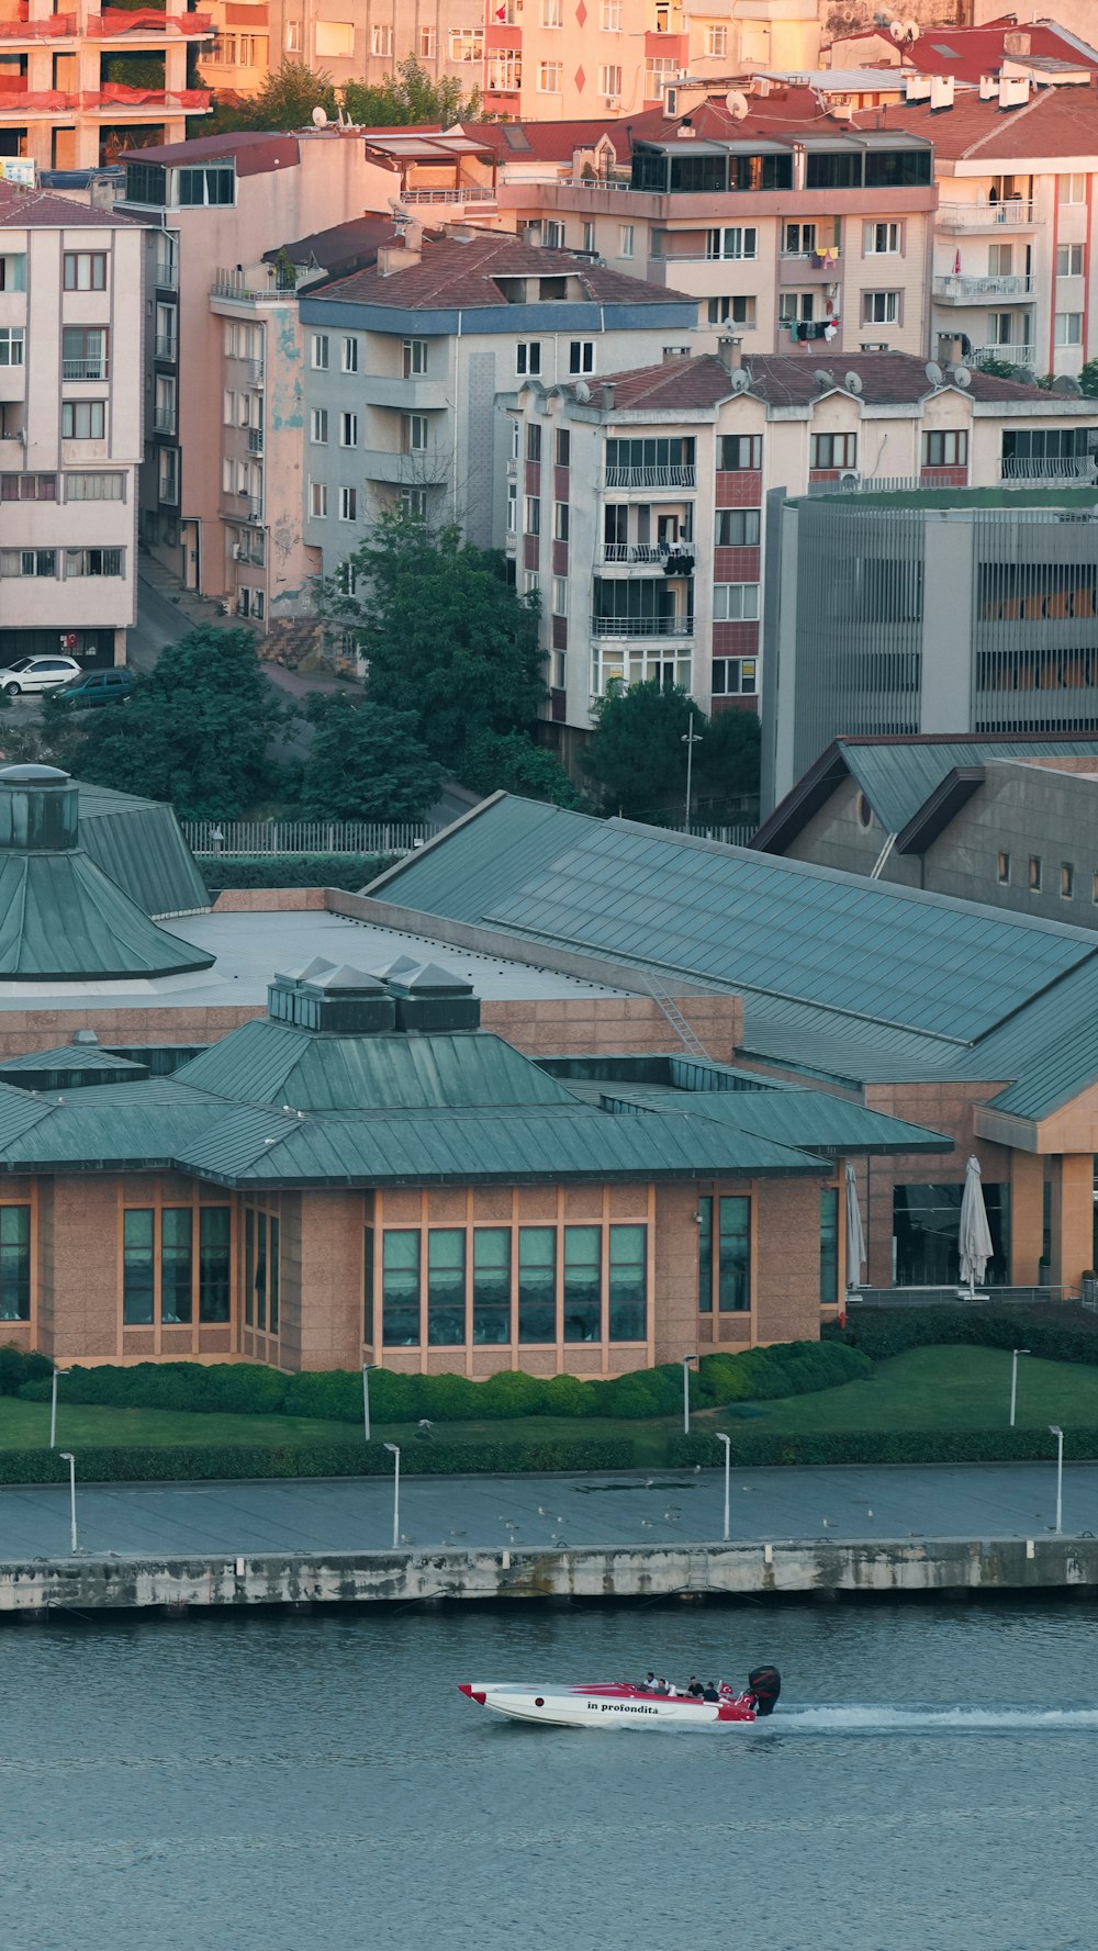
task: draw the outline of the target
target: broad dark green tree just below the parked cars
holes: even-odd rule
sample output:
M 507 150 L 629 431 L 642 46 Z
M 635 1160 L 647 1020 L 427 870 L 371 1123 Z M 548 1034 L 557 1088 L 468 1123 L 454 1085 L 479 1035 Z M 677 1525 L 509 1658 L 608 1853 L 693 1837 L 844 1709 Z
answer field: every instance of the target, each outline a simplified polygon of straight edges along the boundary
M 125 706 L 76 714 L 47 698 L 43 737 L 78 778 L 170 800 L 187 819 L 234 819 L 277 782 L 269 747 L 291 718 L 248 630 L 191 630 Z

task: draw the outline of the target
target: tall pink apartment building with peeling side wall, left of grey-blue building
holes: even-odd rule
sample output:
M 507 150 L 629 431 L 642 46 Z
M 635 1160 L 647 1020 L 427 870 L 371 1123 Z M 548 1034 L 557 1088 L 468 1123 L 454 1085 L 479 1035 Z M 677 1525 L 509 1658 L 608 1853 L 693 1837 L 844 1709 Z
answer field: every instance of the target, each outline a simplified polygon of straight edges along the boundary
M 117 207 L 156 226 L 148 234 L 140 535 L 189 589 L 224 597 L 236 585 L 234 562 L 255 558 L 261 568 L 267 556 L 267 439 L 285 431 L 289 455 L 300 435 L 296 300 L 263 254 L 347 213 L 384 209 L 398 178 L 367 156 L 361 133 L 341 129 L 203 137 L 133 150 L 125 166 Z M 279 334 L 285 343 L 275 347 Z M 287 392 L 267 400 L 275 349 Z M 238 462 L 230 501 L 226 416 Z M 293 507 L 296 546 L 296 494 Z

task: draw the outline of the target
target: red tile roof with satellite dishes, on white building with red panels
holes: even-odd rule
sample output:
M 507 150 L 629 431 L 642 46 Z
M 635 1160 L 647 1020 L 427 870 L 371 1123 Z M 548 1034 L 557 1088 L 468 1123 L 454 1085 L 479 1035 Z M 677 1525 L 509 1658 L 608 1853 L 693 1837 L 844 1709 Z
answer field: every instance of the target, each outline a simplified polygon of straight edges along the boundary
M 751 373 L 751 394 L 768 406 L 807 406 L 821 396 L 815 373 L 835 373 L 837 386 L 846 373 L 856 373 L 862 380 L 860 398 L 868 406 L 915 406 L 932 384 L 926 378 L 926 363 L 913 353 L 831 353 L 821 345 L 819 355 L 784 357 L 766 353 L 743 361 Z M 605 373 L 593 382 L 591 392 L 599 396 L 599 384 L 614 388 L 614 412 L 620 408 L 686 412 L 690 408 L 718 406 L 731 398 L 733 386 L 727 367 L 714 355 L 694 355 L 692 359 L 667 359 L 657 367 L 638 367 L 630 373 Z M 993 378 L 989 373 L 971 375 L 967 388 L 973 400 L 1028 400 L 1034 402 L 1034 388 L 1014 380 Z M 1049 410 L 1055 412 L 1057 396 L 1047 394 Z M 1063 404 L 1063 402 L 1059 402 Z

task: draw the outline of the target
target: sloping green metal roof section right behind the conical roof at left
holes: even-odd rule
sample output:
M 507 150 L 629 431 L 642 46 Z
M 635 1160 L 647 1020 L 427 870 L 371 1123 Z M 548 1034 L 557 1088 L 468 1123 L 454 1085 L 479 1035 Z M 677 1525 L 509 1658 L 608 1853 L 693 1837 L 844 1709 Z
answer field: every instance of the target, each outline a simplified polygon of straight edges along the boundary
M 170 806 L 80 784 L 80 839 L 146 915 L 193 915 L 211 905 Z

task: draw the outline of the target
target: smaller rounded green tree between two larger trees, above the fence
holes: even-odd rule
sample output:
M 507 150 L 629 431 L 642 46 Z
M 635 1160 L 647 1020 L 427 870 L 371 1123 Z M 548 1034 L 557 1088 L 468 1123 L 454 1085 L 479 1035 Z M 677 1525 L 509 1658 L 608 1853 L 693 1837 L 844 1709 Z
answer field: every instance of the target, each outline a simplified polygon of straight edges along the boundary
M 394 712 L 345 691 L 314 695 L 316 726 L 304 761 L 308 819 L 421 819 L 443 786 L 443 767 L 427 757 L 415 712 Z

